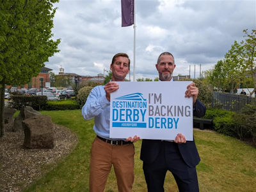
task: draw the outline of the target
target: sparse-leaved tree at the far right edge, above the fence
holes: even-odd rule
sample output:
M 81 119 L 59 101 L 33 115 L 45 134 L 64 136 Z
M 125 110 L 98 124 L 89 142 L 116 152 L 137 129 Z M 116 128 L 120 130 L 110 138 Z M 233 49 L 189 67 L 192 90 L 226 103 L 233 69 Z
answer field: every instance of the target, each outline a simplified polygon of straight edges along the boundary
M 241 41 L 242 45 L 242 59 L 244 63 L 244 71 L 253 81 L 254 89 L 250 93 L 252 96 L 253 92 L 256 91 L 256 29 L 252 29 L 252 33 L 248 33 L 248 29 L 244 29 L 244 37 L 246 40 Z

